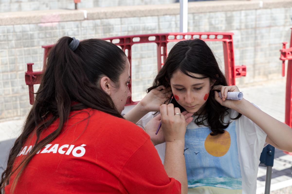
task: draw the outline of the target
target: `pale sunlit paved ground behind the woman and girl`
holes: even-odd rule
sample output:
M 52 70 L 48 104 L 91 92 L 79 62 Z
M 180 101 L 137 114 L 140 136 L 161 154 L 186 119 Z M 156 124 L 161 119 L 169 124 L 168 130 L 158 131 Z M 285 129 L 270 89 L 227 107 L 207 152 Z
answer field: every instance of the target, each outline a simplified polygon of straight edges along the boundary
M 284 122 L 285 115 L 284 79 L 279 81 L 258 83 L 257 85 L 239 86 L 244 98 L 256 104 L 272 117 Z M 0 172 L 5 168 L 6 157 L 13 141 L 18 136 L 24 118 L 0 122 Z M 292 141 L 292 140 L 291 140 Z M 265 191 L 266 168 L 259 168 L 257 179 L 257 194 Z M 286 155 L 280 150 L 275 151 L 274 167 L 272 169 L 271 194 L 292 193 L 292 155 Z

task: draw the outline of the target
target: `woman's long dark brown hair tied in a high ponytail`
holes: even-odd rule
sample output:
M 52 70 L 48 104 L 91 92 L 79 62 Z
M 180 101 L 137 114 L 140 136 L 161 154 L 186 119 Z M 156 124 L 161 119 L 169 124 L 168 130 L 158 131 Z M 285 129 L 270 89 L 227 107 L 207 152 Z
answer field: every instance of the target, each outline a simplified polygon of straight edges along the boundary
M 107 76 L 118 85 L 119 76 L 125 70 L 125 53 L 116 45 L 100 39 L 83 40 L 72 51 L 69 48 L 72 40 L 70 37 L 60 38 L 48 55 L 35 103 L 28 113 L 22 134 L 10 150 L 7 168 L 2 173 L 0 193 L 4 193 L 4 187 L 11 184 L 9 179 L 13 173 L 16 174 L 12 185 L 14 190 L 23 169 L 36 152 L 60 134 L 70 111 L 93 108 L 123 118 L 98 83 L 102 76 Z M 41 132 L 57 118 L 60 119 L 58 128 L 39 140 Z M 35 145 L 14 169 L 15 158 L 33 131 L 37 136 Z

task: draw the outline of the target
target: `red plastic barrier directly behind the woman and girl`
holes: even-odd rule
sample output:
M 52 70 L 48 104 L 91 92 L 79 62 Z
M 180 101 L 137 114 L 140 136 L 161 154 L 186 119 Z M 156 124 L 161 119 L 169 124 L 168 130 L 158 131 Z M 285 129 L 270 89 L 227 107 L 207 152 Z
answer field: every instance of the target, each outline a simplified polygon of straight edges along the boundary
M 157 44 L 157 69 L 161 69 L 164 61 L 167 57 L 167 43 L 178 42 L 181 40 L 188 40 L 199 38 L 204 41 L 221 41 L 223 43 L 224 64 L 225 64 L 225 76 L 229 85 L 235 85 L 235 78 L 246 75 L 246 66 L 234 65 L 234 49 L 233 49 L 233 33 L 219 33 L 219 32 L 188 32 L 188 33 L 159 33 L 159 34 L 142 34 L 142 35 L 127 35 L 117 36 L 111 38 L 102 38 L 109 42 L 121 47 L 121 49 L 128 56 L 128 60 L 131 65 L 131 48 L 132 45 L 142 43 L 156 43 Z M 44 62 L 43 71 L 46 69 L 46 58 L 48 52 L 54 45 L 42 46 L 44 48 Z M 34 103 L 34 84 L 40 83 L 40 77 L 42 72 L 34 72 L 32 70 L 33 63 L 27 63 L 27 72 L 25 72 L 25 83 L 29 86 L 29 101 L 30 104 Z M 131 69 L 130 69 L 131 74 Z M 130 81 L 131 82 L 131 81 Z M 131 91 L 131 83 L 129 84 Z M 132 98 L 127 100 L 126 105 L 137 104 L 133 102 Z

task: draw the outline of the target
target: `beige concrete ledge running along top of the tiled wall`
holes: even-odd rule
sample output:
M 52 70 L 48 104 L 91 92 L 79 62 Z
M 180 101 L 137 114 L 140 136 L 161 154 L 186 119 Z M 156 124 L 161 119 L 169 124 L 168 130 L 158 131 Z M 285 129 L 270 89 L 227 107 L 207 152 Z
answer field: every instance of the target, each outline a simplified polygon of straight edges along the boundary
M 291 8 L 291 0 L 238 0 L 189 2 L 189 13 L 210 13 L 265 8 Z M 144 17 L 179 14 L 179 3 L 166 5 L 118 6 L 88 8 L 84 10 L 41 10 L 30 12 L 0 13 L 0 25 L 39 24 L 67 22 L 85 19 L 108 19 L 122 17 Z

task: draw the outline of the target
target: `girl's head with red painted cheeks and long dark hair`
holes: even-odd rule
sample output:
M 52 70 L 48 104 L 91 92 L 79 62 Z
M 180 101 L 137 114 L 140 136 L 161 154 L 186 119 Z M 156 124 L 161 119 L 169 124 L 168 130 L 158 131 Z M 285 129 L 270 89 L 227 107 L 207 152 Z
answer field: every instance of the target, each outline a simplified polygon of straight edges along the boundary
M 203 124 L 207 120 L 213 134 L 222 133 L 226 128 L 222 123 L 228 108 L 215 100 L 213 88 L 227 86 L 227 82 L 212 50 L 203 40 L 185 40 L 174 45 L 147 92 L 161 85 L 171 87 L 174 97 L 171 103 L 180 111 L 204 118 L 195 123 Z

